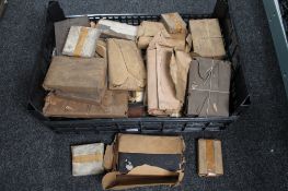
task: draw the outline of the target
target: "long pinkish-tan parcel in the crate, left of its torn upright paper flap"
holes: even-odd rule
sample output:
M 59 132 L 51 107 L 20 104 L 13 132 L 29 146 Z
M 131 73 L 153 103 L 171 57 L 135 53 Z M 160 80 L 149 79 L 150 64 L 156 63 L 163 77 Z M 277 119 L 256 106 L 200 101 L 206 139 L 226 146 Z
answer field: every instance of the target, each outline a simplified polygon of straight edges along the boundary
M 157 48 L 147 50 L 147 57 L 148 112 L 152 116 L 178 114 L 182 104 L 176 98 L 170 72 L 172 48 L 157 45 Z

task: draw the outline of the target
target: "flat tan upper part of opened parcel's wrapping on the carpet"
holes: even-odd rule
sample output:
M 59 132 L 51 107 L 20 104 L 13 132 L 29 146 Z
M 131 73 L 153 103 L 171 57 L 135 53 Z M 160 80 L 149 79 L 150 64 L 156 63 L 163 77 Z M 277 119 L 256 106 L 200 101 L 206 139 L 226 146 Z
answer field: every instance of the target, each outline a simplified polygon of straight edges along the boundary
M 117 142 L 119 153 L 183 154 L 185 150 L 182 136 L 119 134 Z

